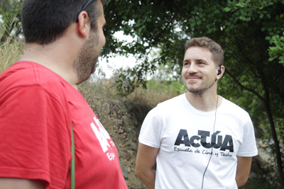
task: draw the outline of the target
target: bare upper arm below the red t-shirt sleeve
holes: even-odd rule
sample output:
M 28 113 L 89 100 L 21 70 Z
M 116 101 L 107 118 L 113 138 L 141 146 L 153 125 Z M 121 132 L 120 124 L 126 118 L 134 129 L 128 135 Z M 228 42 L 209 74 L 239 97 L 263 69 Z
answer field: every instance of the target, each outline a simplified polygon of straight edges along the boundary
M 0 189 L 45 189 L 45 181 L 21 178 L 0 178 Z

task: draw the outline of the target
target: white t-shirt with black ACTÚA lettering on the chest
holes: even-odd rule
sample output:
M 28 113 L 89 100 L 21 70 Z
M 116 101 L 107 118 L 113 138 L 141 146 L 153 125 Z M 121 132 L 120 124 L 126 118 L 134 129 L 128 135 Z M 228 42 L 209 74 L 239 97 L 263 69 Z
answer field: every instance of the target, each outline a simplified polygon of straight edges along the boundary
M 203 188 L 237 188 L 236 156 L 258 154 L 249 114 L 225 98 L 211 112 L 193 108 L 185 94 L 158 104 L 139 142 L 160 149 L 155 188 L 163 189 L 202 188 L 206 168 Z

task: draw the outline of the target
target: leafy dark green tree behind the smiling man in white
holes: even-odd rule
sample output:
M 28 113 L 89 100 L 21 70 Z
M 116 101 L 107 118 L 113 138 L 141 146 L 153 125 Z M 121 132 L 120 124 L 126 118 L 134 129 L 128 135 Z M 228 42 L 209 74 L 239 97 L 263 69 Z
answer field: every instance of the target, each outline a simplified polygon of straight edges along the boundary
M 134 38 L 119 52 L 126 50 L 148 65 L 170 64 L 178 73 L 186 40 L 207 36 L 218 42 L 226 67 L 220 93 L 251 113 L 258 136 L 278 142 L 283 139 L 276 120 L 284 114 L 284 67 L 279 64 L 283 41 L 277 35 L 284 32 L 283 9 L 283 0 L 116 0 L 109 1 L 106 13 L 111 12 L 108 24 Z M 155 61 L 147 56 L 153 48 L 160 49 Z M 135 81 L 133 71 L 129 79 Z

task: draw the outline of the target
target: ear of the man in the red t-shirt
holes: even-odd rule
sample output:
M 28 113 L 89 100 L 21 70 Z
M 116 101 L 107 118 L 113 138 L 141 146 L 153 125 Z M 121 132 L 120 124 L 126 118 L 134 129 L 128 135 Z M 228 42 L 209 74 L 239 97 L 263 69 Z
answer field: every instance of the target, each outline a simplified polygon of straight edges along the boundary
M 82 36 L 82 38 L 86 38 L 89 34 L 89 31 L 91 29 L 91 25 L 89 23 L 89 16 L 86 11 L 82 11 L 78 16 L 78 22 L 77 22 L 77 28 L 78 32 Z

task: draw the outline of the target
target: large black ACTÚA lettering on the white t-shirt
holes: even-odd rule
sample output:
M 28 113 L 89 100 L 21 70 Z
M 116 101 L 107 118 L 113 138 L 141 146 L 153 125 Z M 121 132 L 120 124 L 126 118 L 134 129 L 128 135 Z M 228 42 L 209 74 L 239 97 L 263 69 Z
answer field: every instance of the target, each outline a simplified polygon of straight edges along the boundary
M 231 135 L 226 134 L 223 140 L 223 136 L 218 135 L 219 133 L 220 131 L 217 131 L 211 135 L 211 143 L 210 143 L 206 142 L 207 137 L 210 137 L 209 131 L 198 130 L 198 135 L 188 137 L 187 130 L 180 130 L 180 132 L 178 133 L 178 137 L 175 140 L 175 146 L 180 146 L 180 144 L 185 144 L 185 147 L 197 148 L 200 147 L 200 145 L 202 145 L 202 147 L 207 149 L 213 147 L 214 149 L 220 149 L 222 151 L 229 149 L 230 152 L 234 152 L 234 143 Z

